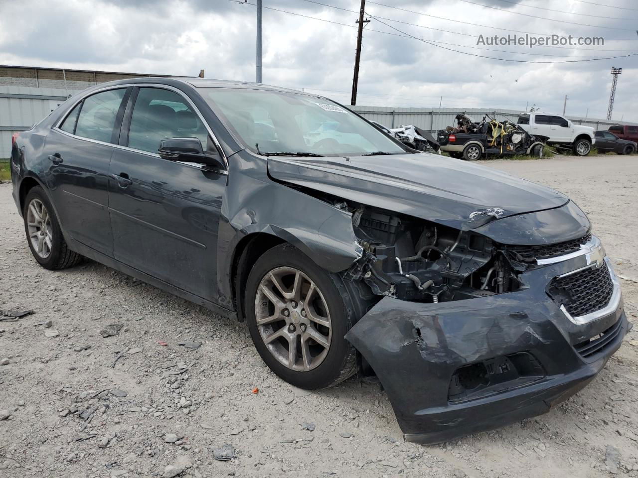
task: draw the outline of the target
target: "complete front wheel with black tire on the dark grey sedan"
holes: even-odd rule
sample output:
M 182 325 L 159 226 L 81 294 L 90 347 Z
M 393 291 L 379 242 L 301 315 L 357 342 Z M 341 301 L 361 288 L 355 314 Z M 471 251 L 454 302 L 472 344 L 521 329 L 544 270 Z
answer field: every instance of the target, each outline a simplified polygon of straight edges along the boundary
M 321 389 L 342 382 L 357 371 L 355 348 L 344 338 L 366 311 L 364 300 L 353 300 L 357 295 L 296 247 L 267 250 L 253 265 L 244 293 L 257 352 L 272 372 L 296 387 Z

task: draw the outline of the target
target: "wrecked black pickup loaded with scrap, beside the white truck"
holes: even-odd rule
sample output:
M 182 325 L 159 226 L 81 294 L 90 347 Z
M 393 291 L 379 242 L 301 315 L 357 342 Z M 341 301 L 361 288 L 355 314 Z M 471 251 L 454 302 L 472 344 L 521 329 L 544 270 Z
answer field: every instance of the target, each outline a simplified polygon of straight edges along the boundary
M 532 136 L 518 125 L 497 121 L 486 115 L 481 121 L 456 115 L 456 127 L 440 129 L 436 140 L 441 151 L 456 159 L 476 161 L 480 157 L 531 154 L 543 156 L 543 136 Z

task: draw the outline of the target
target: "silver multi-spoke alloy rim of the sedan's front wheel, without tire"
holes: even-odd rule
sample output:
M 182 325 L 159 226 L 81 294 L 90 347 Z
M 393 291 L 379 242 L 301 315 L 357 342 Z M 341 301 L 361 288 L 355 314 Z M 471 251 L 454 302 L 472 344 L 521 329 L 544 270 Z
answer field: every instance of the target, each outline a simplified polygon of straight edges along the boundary
M 268 351 L 290 370 L 307 372 L 326 358 L 330 311 L 319 287 L 300 270 L 278 267 L 262 278 L 255 319 Z

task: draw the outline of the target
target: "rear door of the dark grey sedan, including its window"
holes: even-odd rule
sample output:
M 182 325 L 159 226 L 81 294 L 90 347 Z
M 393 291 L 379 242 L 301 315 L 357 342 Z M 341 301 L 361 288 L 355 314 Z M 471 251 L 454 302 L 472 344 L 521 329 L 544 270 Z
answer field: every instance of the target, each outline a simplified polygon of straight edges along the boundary
M 47 184 L 59 221 L 73 239 L 112 256 L 108 166 L 132 87 L 82 99 L 47 136 Z

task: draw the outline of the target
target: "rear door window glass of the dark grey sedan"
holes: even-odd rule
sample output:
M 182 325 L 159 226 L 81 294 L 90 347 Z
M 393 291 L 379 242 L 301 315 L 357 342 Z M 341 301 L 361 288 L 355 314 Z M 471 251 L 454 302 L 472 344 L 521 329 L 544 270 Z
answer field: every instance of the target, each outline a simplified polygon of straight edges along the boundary
M 75 134 L 90 140 L 112 143 L 117 112 L 126 88 L 96 93 L 82 102 Z

